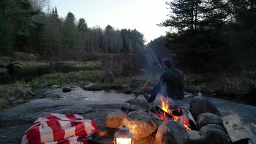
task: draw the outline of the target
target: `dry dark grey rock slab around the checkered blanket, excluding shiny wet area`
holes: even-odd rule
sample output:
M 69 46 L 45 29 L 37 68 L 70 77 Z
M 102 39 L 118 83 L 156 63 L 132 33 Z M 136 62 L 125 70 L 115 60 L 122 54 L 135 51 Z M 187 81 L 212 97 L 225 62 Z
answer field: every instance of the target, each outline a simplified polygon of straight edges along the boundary
M 100 130 L 104 130 L 104 118 L 118 111 L 119 104 L 100 104 L 98 101 L 38 99 L 0 112 L 1 143 L 19 143 L 25 131 L 40 116 L 48 113 L 79 114 L 91 119 Z

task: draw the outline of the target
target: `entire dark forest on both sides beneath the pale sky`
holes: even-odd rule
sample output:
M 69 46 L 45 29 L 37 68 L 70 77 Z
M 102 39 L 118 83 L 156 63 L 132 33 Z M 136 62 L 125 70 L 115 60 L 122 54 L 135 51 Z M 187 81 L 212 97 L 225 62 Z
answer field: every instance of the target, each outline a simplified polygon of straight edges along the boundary
M 49 0 L 2 0 L 0 53 L 138 53 L 149 46 L 159 59 L 166 56 L 166 49 L 177 53 L 178 65 L 194 72 L 255 68 L 256 1 L 174 0 L 166 4 L 170 14 L 158 25 L 170 31 L 144 45 L 144 35 L 136 29 L 89 27 L 86 17 L 76 19 L 71 12 L 60 17 L 57 7 L 49 8 Z

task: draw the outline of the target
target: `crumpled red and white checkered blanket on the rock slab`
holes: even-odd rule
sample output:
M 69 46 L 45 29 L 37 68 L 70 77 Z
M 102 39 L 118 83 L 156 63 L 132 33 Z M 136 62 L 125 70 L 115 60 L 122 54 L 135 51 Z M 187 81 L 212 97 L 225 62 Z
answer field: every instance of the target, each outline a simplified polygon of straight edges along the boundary
M 98 131 L 96 124 L 80 115 L 49 114 L 39 117 L 23 136 L 21 144 L 77 144 L 78 139 L 90 139 Z

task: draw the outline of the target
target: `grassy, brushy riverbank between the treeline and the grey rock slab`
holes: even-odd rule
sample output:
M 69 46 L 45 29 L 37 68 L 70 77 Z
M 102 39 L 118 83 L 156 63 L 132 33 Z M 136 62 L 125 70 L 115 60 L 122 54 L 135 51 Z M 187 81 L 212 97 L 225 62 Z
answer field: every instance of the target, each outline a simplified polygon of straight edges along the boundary
M 38 68 L 54 65 L 53 62 L 19 62 L 24 68 Z M 18 79 L 7 85 L 0 85 L 0 111 L 9 109 L 16 105 L 24 104 L 29 100 L 48 98 L 49 95 L 38 93 L 39 89 L 49 88 L 53 85 L 60 87 L 75 84 L 85 91 L 101 91 L 114 89 L 118 92 L 131 94 L 145 92 L 141 88 L 147 81 L 152 81 L 146 91 L 150 93 L 158 82 L 161 72 L 141 70 L 140 74 L 134 76 L 112 77 L 101 70 L 100 61 L 93 62 L 58 62 L 55 65 L 69 65 L 75 68 L 88 70 L 72 71 L 69 73 L 58 73 L 54 70 L 50 74 L 33 77 L 27 80 L 26 77 Z M 53 67 L 51 67 L 53 68 Z M 239 103 L 255 105 L 256 94 L 256 73 L 244 73 L 241 75 L 193 75 L 185 74 L 185 92 L 211 95 L 213 97 L 234 100 Z M 88 85 L 90 83 L 90 85 Z

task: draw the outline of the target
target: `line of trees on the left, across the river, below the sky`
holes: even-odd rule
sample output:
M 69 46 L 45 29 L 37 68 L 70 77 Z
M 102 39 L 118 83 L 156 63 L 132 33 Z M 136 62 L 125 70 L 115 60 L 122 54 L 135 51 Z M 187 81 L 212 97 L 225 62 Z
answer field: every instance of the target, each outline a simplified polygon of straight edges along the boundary
M 0 1 L 1 55 L 137 52 L 144 46 L 144 35 L 136 29 L 89 27 L 71 12 L 60 17 L 57 7 L 46 13 L 43 9 L 48 4 L 49 0 Z

